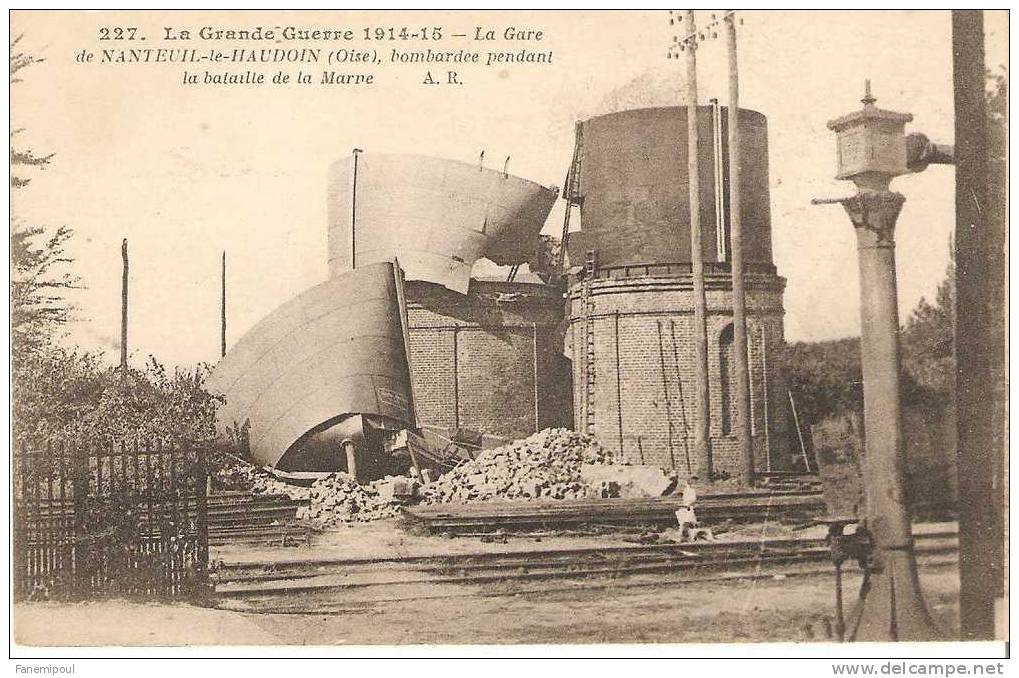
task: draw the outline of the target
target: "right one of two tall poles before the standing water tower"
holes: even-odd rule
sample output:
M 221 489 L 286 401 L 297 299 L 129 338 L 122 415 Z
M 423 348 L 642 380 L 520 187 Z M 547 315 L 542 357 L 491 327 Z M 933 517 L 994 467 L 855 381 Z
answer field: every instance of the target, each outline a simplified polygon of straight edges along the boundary
M 747 308 L 743 266 L 743 214 L 740 208 L 740 73 L 736 54 L 736 12 L 727 12 L 729 47 L 729 223 L 733 277 L 733 367 L 736 372 L 736 432 L 740 442 L 743 484 L 754 483 L 754 440 L 750 411 L 750 370 L 747 359 Z M 765 425 L 767 425 L 765 423 Z

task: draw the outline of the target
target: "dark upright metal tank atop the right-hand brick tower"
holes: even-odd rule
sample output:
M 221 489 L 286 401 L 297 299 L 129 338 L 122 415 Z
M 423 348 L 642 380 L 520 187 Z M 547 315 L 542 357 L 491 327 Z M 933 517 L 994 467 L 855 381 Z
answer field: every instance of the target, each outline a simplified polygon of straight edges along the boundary
M 581 199 L 582 237 L 578 243 L 584 250 L 597 252 L 599 267 L 690 261 L 687 110 L 643 108 L 581 123 L 579 195 L 574 197 Z M 706 262 L 728 260 L 723 245 L 719 245 L 728 239 L 719 239 L 715 219 L 715 195 L 720 189 L 721 228 L 728 234 L 727 117 L 723 106 L 697 108 Z M 749 264 L 768 267 L 772 261 L 767 119 L 747 109 L 740 109 L 739 118 L 744 258 Z M 717 145 L 716 132 L 720 135 Z

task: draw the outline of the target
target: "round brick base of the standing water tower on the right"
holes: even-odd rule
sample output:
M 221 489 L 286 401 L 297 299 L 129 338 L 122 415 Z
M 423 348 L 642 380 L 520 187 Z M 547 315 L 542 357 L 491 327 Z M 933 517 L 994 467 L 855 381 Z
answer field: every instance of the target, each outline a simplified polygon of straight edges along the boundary
M 788 396 L 777 370 L 784 346 L 782 293 L 775 275 L 747 276 L 748 352 L 755 466 L 791 466 Z M 708 389 L 713 468 L 738 475 L 735 429 L 722 430 L 722 334 L 732 324 L 728 276 L 705 280 Z M 571 290 L 565 346 L 574 358 L 574 416 L 584 422 L 584 318 L 582 285 Z M 594 335 L 594 434 L 631 462 L 686 472 L 697 468 L 693 452 L 696 416 L 693 290 L 688 277 L 626 278 L 591 282 Z M 731 331 L 731 330 L 730 330 Z M 732 364 L 732 348 L 729 363 Z M 576 352 L 576 353 L 575 353 Z M 729 406 L 735 424 L 735 374 L 729 370 Z M 689 461 L 688 461 L 689 460 Z

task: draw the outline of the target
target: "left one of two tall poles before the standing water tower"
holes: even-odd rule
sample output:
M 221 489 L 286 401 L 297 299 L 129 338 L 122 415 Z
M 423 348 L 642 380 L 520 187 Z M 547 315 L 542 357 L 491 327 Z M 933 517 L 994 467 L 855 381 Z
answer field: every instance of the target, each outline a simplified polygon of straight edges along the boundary
M 690 184 L 690 264 L 694 282 L 694 371 L 697 381 L 694 453 L 699 475 L 711 478 L 710 401 L 707 383 L 707 299 L 704 294 L 704 248 L 700 226 L 700 167 L 697 136 L 697 25 L 694 10 L 687 22 L 687 174 Z

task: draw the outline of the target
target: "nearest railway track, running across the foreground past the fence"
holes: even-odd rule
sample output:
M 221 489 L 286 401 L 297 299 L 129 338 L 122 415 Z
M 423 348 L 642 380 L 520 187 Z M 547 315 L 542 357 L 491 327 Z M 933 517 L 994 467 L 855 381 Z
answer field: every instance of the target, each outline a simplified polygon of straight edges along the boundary
M 926 565 L 956 562 L 958 538 L 916 535 Z M 822 539 L 618 545 L 408 558 L 232 563 L 214 572 L 219 607 L 284 613 L 383 602 L 830 573 Z

